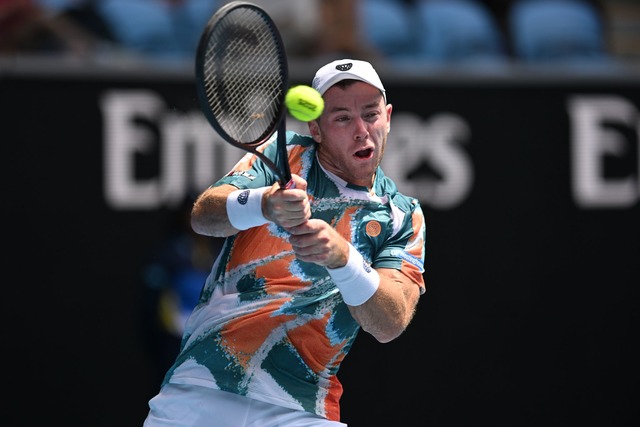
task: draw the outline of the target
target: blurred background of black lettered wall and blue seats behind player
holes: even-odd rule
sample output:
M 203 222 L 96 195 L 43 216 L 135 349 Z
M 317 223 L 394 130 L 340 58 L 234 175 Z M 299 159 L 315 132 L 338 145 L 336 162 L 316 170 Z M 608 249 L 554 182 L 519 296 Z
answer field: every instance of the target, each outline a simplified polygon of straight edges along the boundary
M 637 422 L 640 1 L 253 2 L 291 85 L 374 64 L 383 167 L 427 219 L 428 291 L 359 337 L 343 422 Z M 1 426 L 142 425 L 220 245 L 185 215 L 244 153 L 195 90 L 225 3 L 0 0 Z

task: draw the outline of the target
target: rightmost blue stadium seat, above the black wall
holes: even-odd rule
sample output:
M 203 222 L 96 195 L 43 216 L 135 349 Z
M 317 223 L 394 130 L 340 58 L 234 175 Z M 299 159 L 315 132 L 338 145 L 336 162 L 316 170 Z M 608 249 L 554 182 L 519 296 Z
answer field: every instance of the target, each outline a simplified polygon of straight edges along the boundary
M 514 56 L 524 63 L 606 61 L 603 18 L 581 0 L 520 0 L 509 11 Z

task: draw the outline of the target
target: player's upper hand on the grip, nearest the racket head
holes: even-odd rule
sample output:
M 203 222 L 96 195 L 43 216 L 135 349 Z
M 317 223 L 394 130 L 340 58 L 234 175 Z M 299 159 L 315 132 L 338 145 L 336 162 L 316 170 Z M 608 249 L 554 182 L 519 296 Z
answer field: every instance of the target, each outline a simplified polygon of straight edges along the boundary
M 262 214 L 269 221 L 288 229 L 311 218 L 311 205 L 307 195 L 307 181 L 293 175 L 294 185 L 289 189 L 274 184 L 262 199 Z

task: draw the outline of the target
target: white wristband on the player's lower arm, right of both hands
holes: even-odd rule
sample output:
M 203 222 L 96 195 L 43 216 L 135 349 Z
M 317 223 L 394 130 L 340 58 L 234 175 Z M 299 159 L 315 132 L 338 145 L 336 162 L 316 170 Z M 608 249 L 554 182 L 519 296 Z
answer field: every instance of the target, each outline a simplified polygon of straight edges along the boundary
M 364 304 L 380 285 L 378 272 L 367 264 L 360 252 L 349 243 L 349 260 L 344 267 L 327 268 L 345 303 Z

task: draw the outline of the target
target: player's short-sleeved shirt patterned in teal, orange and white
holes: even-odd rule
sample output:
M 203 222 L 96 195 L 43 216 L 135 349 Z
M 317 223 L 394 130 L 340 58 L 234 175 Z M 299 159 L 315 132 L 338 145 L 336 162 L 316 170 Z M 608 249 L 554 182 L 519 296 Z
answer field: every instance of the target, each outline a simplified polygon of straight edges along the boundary
M 275 158 L 275 136 L 260 149 Z M 306 179 L 313 218 L 332 224 L 374 268 L 401 271 L 425 292 L 426 226 L 418 200 L 400 194 L 380 168 L 374 188 L 324 170 L 309 136 L 287 132 L 291 172 Z M 214 186 L 277 181 L 245 155 Z M 336 374 L 359 325 L 327 270 L 296 259 L 273 223 L 226 239 L 190 316 L 165 382 L 195 384 L 339 421 Z

